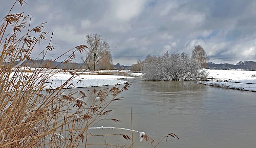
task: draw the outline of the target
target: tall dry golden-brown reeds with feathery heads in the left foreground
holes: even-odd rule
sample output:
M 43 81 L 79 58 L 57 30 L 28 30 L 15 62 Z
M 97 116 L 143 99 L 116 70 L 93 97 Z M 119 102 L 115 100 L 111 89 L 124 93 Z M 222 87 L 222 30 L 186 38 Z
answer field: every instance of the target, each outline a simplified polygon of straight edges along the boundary
M 23 0 L 18 0 L 14 5 L 24 3 Z M 76 85 L 69 82 L 79 76 L 79 69 L 49 69 L 51 62 L 60 59 L 61 56 L 48 64 L 39 65 L 44 68 L 32 71 L 26 67 L 27 61 L 33 61 L 30 54 L 36 44 L 46 40 L 49 33 L 44 31 L 44 23 L 31 28 L 30 16 L 24 16 L 23 13 L 12 14 L 12 9 L 13 7 L 0 22 L 0 147 L 90 147 L 97 145 L 88 141 L 88 137 L 91 136 L 88 130 L 94 129 L 137 132 L 136 139 L 140 136 L 141 141 L 144 139 L 147 142 L 154 142 L 144 132 L 116 127 L 95 127 L 98 122 L 103 121 L 102 116 L 112 112 L 108 110 L 108 106 L 113 101 L 120 100 L 117 98 L 118 94 L 126 91 L 129 84 L 86 92 L 67 90 L 69 85 Z M 41 54 L 45 57 L 45 54 L 52 50 L 54 47 L 50 40 Z M 70 62 L 77 52 L 83 53 L 85 50 L 86 45 L 72 48 L 63 54 L 70 56 L 62 62 Z M 59 72 L 68 72 L 71 77 L 53 89 L 49 79 Z M 95 100 L 96 97 L 99 99 Z M 132 147 L 135 141 L 135 136 L 110 135 L 131 140 L 131 145 L 106 142 L 98 145 Z M 178 138 L 173 134 L 170 136 Z

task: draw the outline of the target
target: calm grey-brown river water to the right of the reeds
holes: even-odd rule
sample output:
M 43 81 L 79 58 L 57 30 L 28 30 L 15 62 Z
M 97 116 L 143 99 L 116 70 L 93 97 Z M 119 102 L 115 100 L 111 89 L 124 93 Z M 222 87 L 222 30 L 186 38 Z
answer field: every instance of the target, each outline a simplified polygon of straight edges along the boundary
M 169 133 L 180 137 L 167 139 L 168 143 L 164 140 L 158 147 L 255 147 L 255 94 L 190 81 L 152 82 L 136 78 L 131 80 L 130 90 L 121 94 L 123 100 L 110 106 L 114 112 L 106 116 L 122 122 L 104 121 L 95 126 L 131 128 L 132 108 L 133 129 L 146 132 L 155 141 Z M 122 137 L 110 140 L 126 142 Z M 136 141 L 134 147 L 151 145 Z

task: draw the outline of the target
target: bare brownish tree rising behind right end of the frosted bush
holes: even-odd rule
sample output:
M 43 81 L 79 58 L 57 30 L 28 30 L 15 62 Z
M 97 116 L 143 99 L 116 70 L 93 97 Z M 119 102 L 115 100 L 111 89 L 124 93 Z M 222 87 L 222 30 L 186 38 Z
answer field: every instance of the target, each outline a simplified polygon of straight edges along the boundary
M 192 50 L 192 59 L 198 62 L 202 67 L 206 67 L 206 63 L 209 60 L 209 57 L 204 51 L 204 48 L 201 45 L 195 45 Z

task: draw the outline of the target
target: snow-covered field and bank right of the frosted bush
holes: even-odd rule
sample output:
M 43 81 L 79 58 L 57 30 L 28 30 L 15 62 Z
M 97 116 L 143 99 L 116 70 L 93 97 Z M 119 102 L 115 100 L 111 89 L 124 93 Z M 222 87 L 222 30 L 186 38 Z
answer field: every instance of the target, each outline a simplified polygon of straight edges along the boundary
M 210 81 L 197 83 L 256 92 L 256 71 L 208 69 Z

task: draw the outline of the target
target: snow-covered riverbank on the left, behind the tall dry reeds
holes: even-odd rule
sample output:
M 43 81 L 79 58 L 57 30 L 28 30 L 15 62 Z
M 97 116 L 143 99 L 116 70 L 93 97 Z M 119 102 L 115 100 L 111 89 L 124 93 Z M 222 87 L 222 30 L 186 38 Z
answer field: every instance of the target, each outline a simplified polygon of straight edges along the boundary
M 15 69 L 14 69 L 15 70 Z M 33 75 L 32 72 L 39 72 L 40 77 L 36 80 L 36 84 L 41 81 L 41 76 L 44 74 L 48 74 L 50 76 L 49 80 L 46 82 L 46 88 L 55 89 L 61 86 L 62 84 L 66 83 L 71 77 L 70 72 L 63 72 L 61 69 L 46 69 L 46 68 L 27 68 L 22 67 L 19 69 L 20 72 L 18 77 L 24 77 L 25 75 L 29 78 Z M 22 72 L 25 70 L 26 72 Z M 72 72 L 72 70 L 70 70 Z M 12 72 L 10 75 L 10 80 L 12 76 L 15 75 L 15 72 Z M 68 84 L 65 88 L 81 88 L 81 87 L 96 87 L 96 86 L 108 86 L 108 85 L 120 85 L 129 82 L 129 79 L 134 79 L 134 77 L 129 76 L 141 76 L 141 73 L 136 73 L 130 75 L 130 70 L 99 70 L 99 71 L 74 71 L 77 72 L 79 75 L 69 80 Z M 124 73 L 127 76 L 116 76 L 112 75 L 112 73 Z M 35 79 L 35 78 L 34 78 Z M 25 80 L 25 79 L 21 79 Z M 25 80 L 26 81 L 26 80 Z M 17 82 L 14 82 L 16 85 Z

